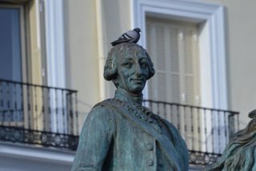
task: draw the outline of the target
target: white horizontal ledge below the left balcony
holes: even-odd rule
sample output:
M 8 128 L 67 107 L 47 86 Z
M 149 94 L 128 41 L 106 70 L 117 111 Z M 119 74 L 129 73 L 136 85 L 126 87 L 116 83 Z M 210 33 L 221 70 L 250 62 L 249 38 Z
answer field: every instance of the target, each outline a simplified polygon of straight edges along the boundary
M 67 150 L 0 142 L 0 170 L 68 171 L 73 161 Z

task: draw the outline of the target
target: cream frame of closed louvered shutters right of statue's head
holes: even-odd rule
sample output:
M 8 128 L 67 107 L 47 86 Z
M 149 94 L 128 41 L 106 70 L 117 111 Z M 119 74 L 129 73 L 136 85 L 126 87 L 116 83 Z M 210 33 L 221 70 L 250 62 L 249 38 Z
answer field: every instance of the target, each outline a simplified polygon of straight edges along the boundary
M 146 25 L 147 26 L 150 26 L 150 27 L 153 27 L 154 29 L 156 28 L 156 26 L 162 26 L 164 28 L 164 37 L 167 38 L 165 39 L 164 41 L 164 44 L 166 45 L 165 46 L 165 54 L 166 54 L 166 66 L 165 66 L 165 70 L 159 70 L 158 69 L 158 57 L 156 56 L 156 52 L 151 52 L 153 54 L 152 57 L 151 57 L 151 60 L 152 62 L 154 62 L 154 65 L 156 65 L 154 67 L 154 69 L 156 70 L 156 73 L 160 72 L 164 72 L 165 74 L 169 73 L 170 75 L 166 75 L 166 93 L 169 94 L 166 96 L 166 100 L 167 102 L 178 102 L 178 103 L 182 103 L 182 104 L 187 104 L 187 105 L 200 105 L 200 101 L 198 101 L 198 97 L 201 96 L 200 94 L 200 74 L 199 73 L 199 59 L 198 59 L 198 25 L 196 24 L 190 24 L 190 23 L 187 23 L 187 22 L 177 22 L 177 21 L 173 21 L 173 20 L 162 20 L 161 18 L 146 18 Z M 172 51 L 169 49 L 170 48 L 170 40 L 168 40 L 168 38 L 170 38 L 170 30 L 169 29 L 176 29 L 178 30 L 177 34 L 176 34 L 176 38 L 177 38 L 177 46 L 178 46 L 178 49 L 177 49 L 177 53 L 178 53 L 178 70 L 176 72 L 170 70 L 170 58 L 171 58 L 171 54 L 172 54 Z M 191 64 L 191 67 L 193 68 L 193 73 L 192 74 L 187 74 L 185 72 L 185 54 L 183 52 L 184 48 L 185 48 L 185 44 L 186 44 L 186 40 L 185 38 L 183 38 L 183 34 L 184 32 L 190 30 L 193 35 L 191 35 L 191 57 L 192 57 L 192 64 Z M 146 30 L 148 31 L 148 30 Z M 167 33 L 168 32 L 168 33 Z M 181 35 L 182 34 L 182 35 Z M 150 33 L 146 33 L 147 36 L 150 35 Z M 194 36 L 196 36 L 196 38 L 194 38 Z M 148 41 L 148 40 L 147 40 Z M 154 44 L 154 42 L 151 42 Z M 155 46 L 155 45 L 151 45 L 151 46 Z M 150 48 L 150 47 L 148 47 Z M 148 49 L 149 50 L 149 49 Z M 148 53 L 150 53 L 150 51 L 148 51 Z M 167 73 L 166 73 L 167 72 Z M 173 85 L 173 78 L 172 78 L 172 75 L 175 74 L 175 75 L 178 75 L 178 85 L 180 86 L 180 89 L 179 89 L 179 94 L 180 96 L 178 97 L 178 99 L 174 99 L 173 98 L 173 88 L 172 88 L 172 85 Z M 187 88 L 187 85 L 186 85 L 186 76 L 191 76 L 193 78 L 193 85 L 192 87 L 194 87 L 194 89 L 192 90 L 193 94 L 194 94 L 194 97 L 193 97 L 193 101 L 190 101 L 188 102 L 187 99 L 186 99 L 186 88 Z M 158 82 L 158 78 L 153 78 L 153 80 L 150 80 L 148 82 L 148 84 L 150 85 L 150 82 L 151 84 L 153 82 L 155 82 L 153 85 L 154 86 L 157 86 L 156 85 L 156 82 Z M 167 88 L 168 87 L 168 88 Z M 190 86 L 188 86 L 190 87 Z M 151 90 L 152 91 L 152 90 Z M 191 92 L 191 93 L 192 93 Z M 154 93 L 152 92 L 148 92 L 148 94 L 150 94 L 151 97 L 154 97 Z M 159 100 L 158 97 L 154 97 L 152 100 Z M 177 101 L 178 100 L 178 101 Z M 160 101 L 163 101 L 160 100 Z

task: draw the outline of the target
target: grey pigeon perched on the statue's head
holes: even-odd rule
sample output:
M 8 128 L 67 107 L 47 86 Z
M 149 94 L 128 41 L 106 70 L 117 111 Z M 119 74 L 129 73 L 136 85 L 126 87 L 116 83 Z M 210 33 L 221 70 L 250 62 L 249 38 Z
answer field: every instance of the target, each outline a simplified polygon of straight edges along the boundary
M 137 43 L 139 38 L 140 38 L 140 34 L 139 32 L 141 32 L 140 28 L 135 28 L 134 30 L 129 30 L 126 31 L 126 33 L 122 34 L 118 40 L 111 42 L 112 46 L 116 46 L 119 43 L 122 42 L 132 42 L 132 43 Z

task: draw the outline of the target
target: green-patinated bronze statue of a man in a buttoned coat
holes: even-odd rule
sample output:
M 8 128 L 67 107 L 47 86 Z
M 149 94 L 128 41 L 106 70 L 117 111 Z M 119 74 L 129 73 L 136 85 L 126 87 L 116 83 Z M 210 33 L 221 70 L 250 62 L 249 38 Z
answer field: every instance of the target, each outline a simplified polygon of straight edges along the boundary
M 104 78 L 117 90 L 86 118 L 72 171 L 188 170 L 188 151 L 178 129 L 142 106 L 142 89 L 153 75 L 142 46 L 124 42 L 110 50 Z

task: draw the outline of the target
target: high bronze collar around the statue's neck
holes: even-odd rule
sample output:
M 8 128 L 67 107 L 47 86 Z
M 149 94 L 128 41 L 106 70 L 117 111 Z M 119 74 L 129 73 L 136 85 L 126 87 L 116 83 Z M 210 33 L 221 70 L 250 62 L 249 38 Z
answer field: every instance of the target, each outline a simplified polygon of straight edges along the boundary
M 131 103 L 142 105 L 143 94 L 132 94 L 124 89 L 118 89 L 115 91 L 114 98 L 120 101 L 129 101 Z

